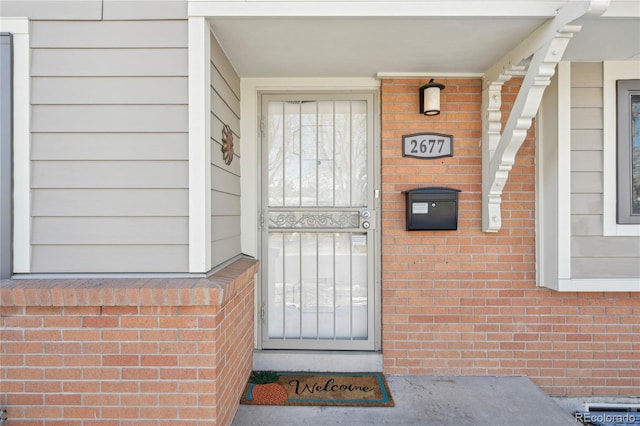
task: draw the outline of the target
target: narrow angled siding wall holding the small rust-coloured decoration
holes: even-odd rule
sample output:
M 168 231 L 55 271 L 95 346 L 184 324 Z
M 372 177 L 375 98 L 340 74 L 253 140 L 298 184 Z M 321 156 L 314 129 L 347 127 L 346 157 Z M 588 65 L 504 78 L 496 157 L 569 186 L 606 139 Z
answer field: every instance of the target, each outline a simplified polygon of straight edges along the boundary
M 234 158 L 222 157 L 222 129 L 233 132 Z M 240 78 L 214 36 L 211 37 L 211 265 L 240 249 Z

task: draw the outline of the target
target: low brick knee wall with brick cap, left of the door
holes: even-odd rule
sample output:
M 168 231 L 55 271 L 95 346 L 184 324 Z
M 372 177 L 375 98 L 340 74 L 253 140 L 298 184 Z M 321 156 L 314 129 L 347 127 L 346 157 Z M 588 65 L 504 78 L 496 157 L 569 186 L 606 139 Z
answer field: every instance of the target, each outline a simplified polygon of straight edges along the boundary
M 208 280 L 3 281 L 9 424 L 230 424 L 251 371 L 256 271 L 242 259 Z

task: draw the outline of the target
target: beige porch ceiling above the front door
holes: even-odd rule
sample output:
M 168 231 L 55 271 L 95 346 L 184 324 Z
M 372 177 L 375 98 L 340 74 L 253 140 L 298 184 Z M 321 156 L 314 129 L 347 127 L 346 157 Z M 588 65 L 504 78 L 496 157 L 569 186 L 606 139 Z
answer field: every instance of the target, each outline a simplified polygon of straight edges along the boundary
M 495 3 L 509 2 L 485 2 Z M 335 16 L 339 12 L 324 17 L 308 12 L 278 16 L 277 11 L 272 16 L 233 16 L 228 11 L 209 21 L 241 77 L 374 77 L 381 72 L 481 75 L 553 17 L 554 9 L 549 7 L 553 2 L 514 3 L 522 4 L 522 12 L 504 9 L 502 16 L 495 7 L 460 12 L 465 16 L 453 16 L 451 10 L 439 16 L 438 10 L 424 9 L 421 16 L 386 16 L 388 12 L 383 11 L 363 16 L 350 12 L 348 17 Z M 340 3 L 334 4 L 339 10 Z M 443 3 L 422 4 L 435 8 Z M 536 4 L 540 7 L 533 10 Z M 406 10 L 400 12 L 407 15 Z M 583 28 L 569 43 L 564 60 L 640 60 L 639 0 L 614 0 L 603 16 L 575 23 Z

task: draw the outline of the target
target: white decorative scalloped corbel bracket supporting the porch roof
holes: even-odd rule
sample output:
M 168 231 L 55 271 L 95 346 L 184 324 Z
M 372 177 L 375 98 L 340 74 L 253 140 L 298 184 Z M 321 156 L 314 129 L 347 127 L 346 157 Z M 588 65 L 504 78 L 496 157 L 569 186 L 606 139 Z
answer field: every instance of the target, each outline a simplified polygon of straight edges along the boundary
M 580 26 L 567 25 L 585 14 L 601 15 L 609 0 L 569 1 L 555 18 L 509 52 L 483 78 L 482 92 L 482 230 L 498 232 L 502 227 L 502 191 L 524 142 L 531 121 L 538 113 L 544 90 L 555 73 L 573 33 Z M 513 75 L 524 72 L 520 90 L 502 128 L 502 86 Z

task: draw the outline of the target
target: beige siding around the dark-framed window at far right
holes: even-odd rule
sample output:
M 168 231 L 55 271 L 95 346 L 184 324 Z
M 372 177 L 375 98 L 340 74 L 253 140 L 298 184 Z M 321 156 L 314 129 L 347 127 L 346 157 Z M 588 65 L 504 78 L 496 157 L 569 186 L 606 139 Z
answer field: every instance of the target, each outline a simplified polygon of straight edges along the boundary
M 571 275 L 638 278 L 640 239 L 603 236 L 602 87 L 602 63 L 571 64 Z

